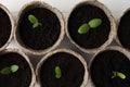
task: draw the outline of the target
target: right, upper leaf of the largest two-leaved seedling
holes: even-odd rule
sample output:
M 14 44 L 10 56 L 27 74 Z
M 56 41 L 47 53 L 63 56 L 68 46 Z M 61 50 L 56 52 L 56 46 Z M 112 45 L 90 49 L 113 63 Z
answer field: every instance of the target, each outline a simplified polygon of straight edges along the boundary
M 96 28 L 102 24 L 102 20 L 101 18 L 93 18 L 89 22 L 89 26 L 90 28 Z

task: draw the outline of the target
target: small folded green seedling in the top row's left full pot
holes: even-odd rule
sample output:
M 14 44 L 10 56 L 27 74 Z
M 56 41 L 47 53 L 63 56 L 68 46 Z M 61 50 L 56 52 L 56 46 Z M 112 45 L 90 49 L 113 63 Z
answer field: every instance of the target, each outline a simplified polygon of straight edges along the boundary
M 41 23 L 39 23 L 38 18 L 32 14 L 28 15 L 28 20 L 32 24 L 32 28 L 36 28 L 39 25 L 41 26 Z

